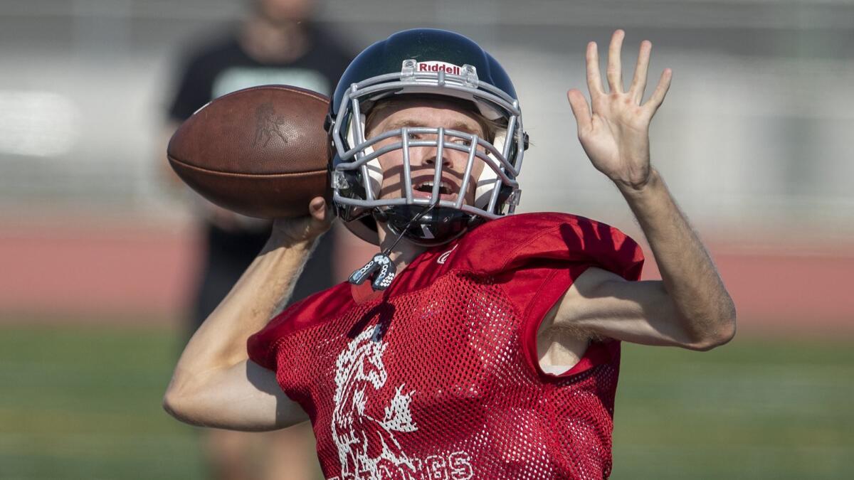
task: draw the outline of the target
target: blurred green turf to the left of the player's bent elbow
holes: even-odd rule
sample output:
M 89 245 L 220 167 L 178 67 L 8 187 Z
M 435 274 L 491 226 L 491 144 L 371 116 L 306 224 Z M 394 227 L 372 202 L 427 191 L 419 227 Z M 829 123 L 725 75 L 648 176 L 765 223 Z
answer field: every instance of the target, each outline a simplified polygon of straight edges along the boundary
M 0 478 L 202 478 L 196 430 L 161 408 L 166 329 L 3 327 Z

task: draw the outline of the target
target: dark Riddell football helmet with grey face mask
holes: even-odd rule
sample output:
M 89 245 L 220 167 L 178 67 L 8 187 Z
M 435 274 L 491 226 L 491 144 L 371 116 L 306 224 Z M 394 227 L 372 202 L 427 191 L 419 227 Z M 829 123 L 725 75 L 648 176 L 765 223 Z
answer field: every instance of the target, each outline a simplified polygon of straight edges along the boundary
M 417 96 L 470 105 L 473 113 L 494 126 L 491 138 L 430 126 L 403 127 L 365 138 L 366 115 L 378 101 Z M 376 221 L 380 220 L 415 243 L 447 243 L 478 222 L 512 214 L 518 205 L 517 177 L 528 136 L 516 91 L 498 61 L 458 33 L 406 30 L 362 51 L 337 85 L 327 131 L 333 146 L 330 174 L 336 214 L 368 242 L 378 244 Z M 397 142 L 373 148 L 389 138 Z M 435 162 L 434 181 L 425 187 L 431 188 L 430 197 L 412 195 L 408 149 L 413 147 L 433 147 L 436 158 L 448 149 L 468 155 L 455 200 L 441 198 L 442 161 Z M 377 158 L 395 149 L 403 150 L 405 196 L 381 199 L 383 171 Z M 477 182 L 475 201 L 468 205 L 462 192 L 471 187 L 468 173 L 476 159 L 485 167 L 480 178 L 473 180 Z

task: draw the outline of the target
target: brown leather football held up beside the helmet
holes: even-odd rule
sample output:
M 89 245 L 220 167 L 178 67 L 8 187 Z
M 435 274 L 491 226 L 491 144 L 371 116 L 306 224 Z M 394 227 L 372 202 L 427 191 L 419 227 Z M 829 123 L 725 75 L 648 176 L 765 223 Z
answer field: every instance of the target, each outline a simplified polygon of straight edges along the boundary
M 308 214 L 329 196 L 329 98 L 290 85 L 235 91 L 200 108 L 169 141 L 167 155 L 193 190 L 238 214 Z

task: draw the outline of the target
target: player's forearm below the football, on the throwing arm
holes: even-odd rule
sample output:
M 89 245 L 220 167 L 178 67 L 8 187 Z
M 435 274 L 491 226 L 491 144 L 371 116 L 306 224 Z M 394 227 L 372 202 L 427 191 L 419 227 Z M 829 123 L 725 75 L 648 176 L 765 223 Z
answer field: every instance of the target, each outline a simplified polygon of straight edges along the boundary
M 170 388 L 194 383 L 210 372 L 248 358 L 246 341 L 288 301 L 313 242 L 286 243 L 275 231 L 184 348 Z

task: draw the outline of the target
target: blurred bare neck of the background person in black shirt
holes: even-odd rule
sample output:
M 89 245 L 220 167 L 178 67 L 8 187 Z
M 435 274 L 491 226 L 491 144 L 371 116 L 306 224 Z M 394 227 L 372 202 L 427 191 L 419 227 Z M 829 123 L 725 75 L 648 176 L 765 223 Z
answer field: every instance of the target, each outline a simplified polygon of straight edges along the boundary
M 295 61 L 309 47 L 301 22 L 273 21 L 263 15 L 254 15 L 243 24 L 239 42 L 249 56 L 261 63 Z

